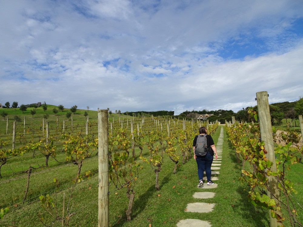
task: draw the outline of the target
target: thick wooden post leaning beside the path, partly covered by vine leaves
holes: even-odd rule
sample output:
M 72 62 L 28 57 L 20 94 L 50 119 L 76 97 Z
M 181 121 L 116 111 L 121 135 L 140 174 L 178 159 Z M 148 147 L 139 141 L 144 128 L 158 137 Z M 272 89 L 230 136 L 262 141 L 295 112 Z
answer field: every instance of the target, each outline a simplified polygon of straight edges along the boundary
M 257 92 L 257 104 L 258 104 L 258 114 L 260 120 L 260 131 L 261 131 L 261 140 L 265 141 L 265 150 L 267 150 L 266 157 L 269 161 L 273 163 L 271 170 L 273 172 L 277 171 L 276 159 L 275 159 L 275 150 L 274 150 L 274 141 L 272 138 L 272 128 L 271 128 L 271 117 L 269 112 L 268 104 L 268 94 L 267 91 Z M 278 189 L 278 180 L 275 176 L 267 176 L 268 178 L 268 191 L 267 196 L 271 199 L 275 199 L 277 205 L 279 205 L 279 189 Z M 278 226 L 277 219 L 271 217 L 271 211 L 269 210 L 270 217 L 270 226 Z

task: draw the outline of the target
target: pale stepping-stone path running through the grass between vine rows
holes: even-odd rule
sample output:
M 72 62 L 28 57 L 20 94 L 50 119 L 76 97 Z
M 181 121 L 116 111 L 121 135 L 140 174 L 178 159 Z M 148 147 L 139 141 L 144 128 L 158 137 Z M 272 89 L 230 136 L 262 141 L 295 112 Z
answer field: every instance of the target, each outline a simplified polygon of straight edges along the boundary
M 222 160 L 222 146 L 223 146 L 223 137 L 224 137 L 224 129 L 221 127 L 220 136 L 218 139 L 218 143 L 216 145 L 217 153 L 218 153 L 218 159 L 214 160 L 211 165 L 211 175 L 220 174 L 218 171 L 221 166 L 221 160 Z M 206 182 L 206 176 L 203 178 L 204 182 Z M 218 180 L 218 177 L 211 177 L 212 181 Z M 204 186 L 202 188 L 198 188 L 199 190 L 202 190 L 202 192 L 195 192 L 193 195 L 196 199 L 209 199 L 213 198 L 215 196 L 214 192 L 208 192 L 208 189 L 216 188 L 218 184 L 212 184 L 212 185 L 206 185 L 204 183 Z M 206 213 L 211 212 L 216 204 L 215 203 L 204 203 L 204 202 L 194 202 L 189 203 L 186 207 L 186 212 L 199 212 L 199 213 Z M 211 227 L 211 223 L 203 220 L 198 219 L 185 219 L 178 222 L 177 227 Z

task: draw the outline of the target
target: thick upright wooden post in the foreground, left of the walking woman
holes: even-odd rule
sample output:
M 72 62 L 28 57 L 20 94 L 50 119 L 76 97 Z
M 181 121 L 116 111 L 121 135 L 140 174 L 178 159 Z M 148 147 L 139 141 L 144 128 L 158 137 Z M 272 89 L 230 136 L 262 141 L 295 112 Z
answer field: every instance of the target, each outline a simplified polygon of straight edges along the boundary
M 98 227 L 108 227 L 108 120 L 107 110 L 98 110 Z

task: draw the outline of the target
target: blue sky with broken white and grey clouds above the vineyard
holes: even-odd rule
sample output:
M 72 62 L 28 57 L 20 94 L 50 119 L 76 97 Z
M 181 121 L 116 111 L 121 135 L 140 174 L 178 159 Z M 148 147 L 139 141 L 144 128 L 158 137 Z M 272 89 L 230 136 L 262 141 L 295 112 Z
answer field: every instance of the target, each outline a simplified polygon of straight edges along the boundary
M 303 97 L 301 0 L 2 1 L 0 21 L 2 104 L 179 114 Z

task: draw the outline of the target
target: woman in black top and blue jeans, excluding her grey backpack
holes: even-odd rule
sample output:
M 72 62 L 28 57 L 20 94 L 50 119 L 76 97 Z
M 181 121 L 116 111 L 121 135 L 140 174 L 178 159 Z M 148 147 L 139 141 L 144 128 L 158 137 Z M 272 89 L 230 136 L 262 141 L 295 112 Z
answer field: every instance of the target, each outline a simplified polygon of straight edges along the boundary
M 207 152 L 206 156 L 204 157 L 199 157 L 196 156 L 195 154 L 195 147 L 197 144 L 197 138 L 199 135 L 195 136 L 194 141 L 193 141 L 193 150 L 194 150 L 194 159 L 197 162 L 197 166 L 198 166 L 198 176 L 199 176 L 199 184 L 198 187 L 201 188 L 203 187 L 203 174 L 204 174 L 204 169 L 205 169 L 205 174 L 206 174 L 206 178 L 207 178 L 207 185 L 211 185 L 214 182 L 211 181 L 211 163 L 214 160 L 214 154 L 215 154 L 215 159 L 218 159 L 218 154 L 217 154 L 217 150 L 216 150 L 216 146 L 214 143 L 214 140 L 212 139 L 212 137 L 210 135 L 207 135 L 207 130 L 205 127 L 200 127 L 199 128 L 199 133 L 200 135 L 206 135 L 206 141 L 207 141 L 207 147 L 209 149 L 209 151 Z

